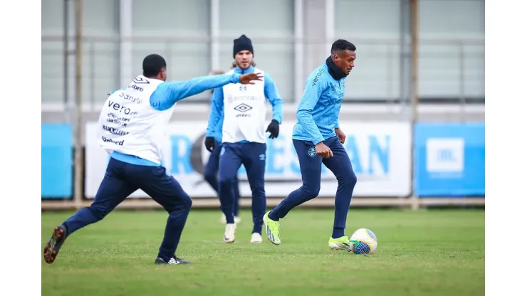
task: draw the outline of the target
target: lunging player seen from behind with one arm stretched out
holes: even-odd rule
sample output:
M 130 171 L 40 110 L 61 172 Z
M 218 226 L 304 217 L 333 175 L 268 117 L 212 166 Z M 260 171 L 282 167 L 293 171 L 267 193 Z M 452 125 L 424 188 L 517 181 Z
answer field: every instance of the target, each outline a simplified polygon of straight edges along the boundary
M 161 165 L 161 146 L 177 101 L 228 83 L 261 81 L 256 73 L 229 73 L 166 83 L 167 63 L 159 55 L 147 56 L 142 75 L 127 88 L 114 92 L 99 116 L 98 142 L 109 154 L 105 176 L 91 206 L 81 208 L 53 230 L 44 247 L 46 263 L 56 260 L 66 238 L 80 228 L 103 219 L 137 189 L 142 189 L 168 212 L 156 264 L 187 264 L 176 249 L 192 200 Z

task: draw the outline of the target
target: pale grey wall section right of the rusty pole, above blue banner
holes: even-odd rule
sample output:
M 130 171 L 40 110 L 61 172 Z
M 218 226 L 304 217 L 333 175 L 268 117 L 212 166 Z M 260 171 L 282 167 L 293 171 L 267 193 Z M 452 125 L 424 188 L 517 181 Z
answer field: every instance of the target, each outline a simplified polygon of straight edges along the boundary
M 419 96 L 484 97 L 484 0 L 419 0 L 419 36 Z

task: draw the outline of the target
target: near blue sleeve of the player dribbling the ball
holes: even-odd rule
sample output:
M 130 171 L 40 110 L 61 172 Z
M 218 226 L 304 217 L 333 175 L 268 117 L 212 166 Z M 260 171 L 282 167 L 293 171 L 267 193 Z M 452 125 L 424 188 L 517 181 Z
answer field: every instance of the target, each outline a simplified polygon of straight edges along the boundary
M 310 76 L 306 81 L 306 88 L 300 100 L 300 104 L 296 109 L 296 118 L 298 123 L 303 127 L 303 129 L 309 134 L 311 142 L 313 144 L 318 144 L 324 140 L 320 130 L 318 129 L 315 120 L 313 120 L 313 108 L 320 99 L 325 88 L 325 82 L 323 80 L 315 81 L 313 77 Z

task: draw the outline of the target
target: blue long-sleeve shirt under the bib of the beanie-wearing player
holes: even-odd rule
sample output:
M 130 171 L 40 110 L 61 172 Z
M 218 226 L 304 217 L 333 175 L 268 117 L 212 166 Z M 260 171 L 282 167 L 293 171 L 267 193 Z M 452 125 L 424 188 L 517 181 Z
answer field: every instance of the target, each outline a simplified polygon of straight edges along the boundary
M 240 68 L 234 68 L 234 73 L 246 74 L 253 73 L 254 67 L 251 66 L 246 70 Z M 264 73 L 264 95 L 271 103 L 273 107 L 273 120 L 276 120 L 279 124 L 282 123 L 283 117 L 283 100 L 278 95 L 278 89 L 274 83 L 273 78 L 267 73 Z M 209 117 L 209 125 L 207 126 L 207 137 L 214 137 L 217 142 L 221 142 L 223 132 L 223 120 L 224 120 L 224 97 L 223 88 L 214 89 L 211 97 L 211 112 Z

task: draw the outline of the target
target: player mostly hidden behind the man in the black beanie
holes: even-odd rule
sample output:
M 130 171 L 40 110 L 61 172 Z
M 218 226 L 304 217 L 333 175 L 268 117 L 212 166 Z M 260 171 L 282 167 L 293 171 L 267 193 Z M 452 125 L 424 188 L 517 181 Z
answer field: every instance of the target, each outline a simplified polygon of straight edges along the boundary
M 219 75 L 224 74 L 224 71 L 221 70 L 215 70 L 210 73 L 211 75 Z M 214 90 L 211 90 L 212 93 L 214 93 Z M 207 181 L 207 183 L 210 184 L 212 189 L 216 191 L 216 193 L 219 196 L 219 189 L 218 189 L 218 170 L 219 170 L 219 151 L 221 149 L 221 127 L 223 127 L 223 118 L 221 118 L 221 121 L 216 124 L 216 127 L 214 129 L 214 136 L 206 137 L 205 138 L 205 147 L 209 152 L 211 152 L 209 161 L 207 162 L 207 166 L 205 166 L 204 170 L 204 178 Z M 239 202 L 240 202 L 240 189 L 238 184 L 238 176 L 234 178 L 234 184 L 232 184 L 232 189 L 234 190 L 234 223 L 240 223 L 241 218 L 239 217 Z M 221 223 L 226 222 L 225 214 L 221 212 Z

